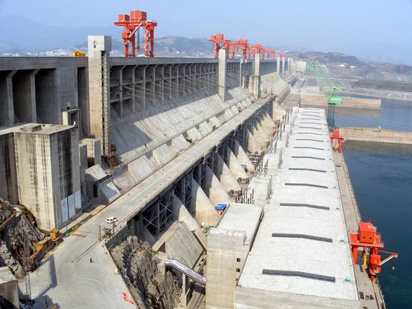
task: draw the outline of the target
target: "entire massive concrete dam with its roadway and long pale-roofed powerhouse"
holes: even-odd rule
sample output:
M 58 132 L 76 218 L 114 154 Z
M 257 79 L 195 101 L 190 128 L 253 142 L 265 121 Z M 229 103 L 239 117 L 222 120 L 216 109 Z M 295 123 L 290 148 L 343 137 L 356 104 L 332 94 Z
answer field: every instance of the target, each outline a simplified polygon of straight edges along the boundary
M 0 197 L 65 236 L 34 308 L 385 306 L 352 261 L 325 114 L 290 86 L 304 63 L 88 45 L 0 58 Z

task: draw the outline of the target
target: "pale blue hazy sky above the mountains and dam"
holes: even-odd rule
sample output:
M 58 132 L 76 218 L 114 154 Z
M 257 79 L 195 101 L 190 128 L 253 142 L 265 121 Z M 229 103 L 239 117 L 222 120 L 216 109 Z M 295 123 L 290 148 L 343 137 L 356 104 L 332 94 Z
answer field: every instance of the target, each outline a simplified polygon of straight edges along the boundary
M 65 27 L 113 25 L 137 8 L 158 21 L 155 36 L 223 33 L 273 48 L 358 48 L 382 60 L 412 54 L 412 0 L 0 0 L 0 15 Z

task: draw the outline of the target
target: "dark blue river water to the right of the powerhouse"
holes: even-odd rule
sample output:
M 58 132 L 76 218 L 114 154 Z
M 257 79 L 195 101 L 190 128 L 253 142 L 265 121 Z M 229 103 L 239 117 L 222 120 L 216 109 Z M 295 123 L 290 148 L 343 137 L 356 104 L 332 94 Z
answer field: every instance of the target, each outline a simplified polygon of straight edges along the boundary
M 336 108 L 335 124 L 412 131 L 412 102 L 382 99 L 382 109 L 366 115 Z M 412 146 L 343 145 L 363 221 L 371 218 L 382 233 L 385 251 L 399 253 L 378 275 L 387 308 L 412 308 Z M 382 253 L 382 260 L 386 257 Z

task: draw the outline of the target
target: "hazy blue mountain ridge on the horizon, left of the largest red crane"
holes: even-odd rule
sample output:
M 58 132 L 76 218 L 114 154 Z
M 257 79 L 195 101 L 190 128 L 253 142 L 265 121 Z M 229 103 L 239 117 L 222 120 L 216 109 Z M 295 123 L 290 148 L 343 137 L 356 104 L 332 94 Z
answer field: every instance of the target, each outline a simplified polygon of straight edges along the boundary
M 0 52 L 38 51 L 73 47 L 87 41 L 88 35 L 120 37 L 120 27 L 53 27 L 22 16 L 0 16 Z

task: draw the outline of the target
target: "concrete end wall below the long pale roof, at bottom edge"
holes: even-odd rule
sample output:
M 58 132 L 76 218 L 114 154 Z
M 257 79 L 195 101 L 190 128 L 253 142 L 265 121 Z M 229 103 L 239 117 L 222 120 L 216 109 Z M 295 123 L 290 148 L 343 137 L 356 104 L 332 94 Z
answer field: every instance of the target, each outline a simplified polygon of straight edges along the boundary
M 271 290 L 258 290 L 236 286 L 235 306 L 232 308 L 360 308 L 359 301 L 347 299 L 332 299 L 314 297 L 310 295 L 297 295 L 279 293 Z

